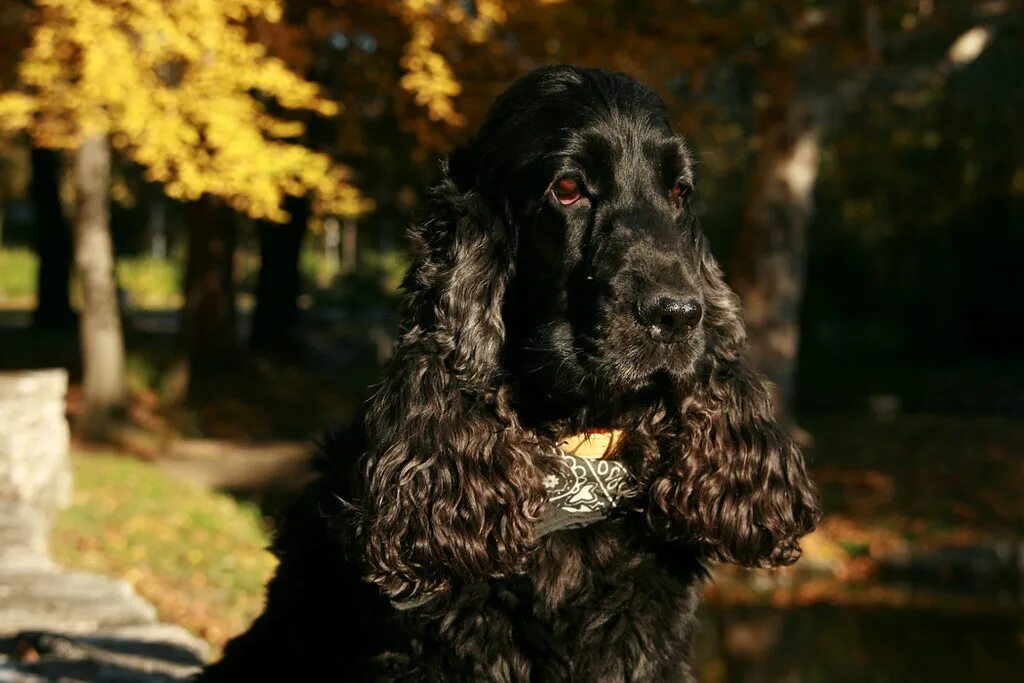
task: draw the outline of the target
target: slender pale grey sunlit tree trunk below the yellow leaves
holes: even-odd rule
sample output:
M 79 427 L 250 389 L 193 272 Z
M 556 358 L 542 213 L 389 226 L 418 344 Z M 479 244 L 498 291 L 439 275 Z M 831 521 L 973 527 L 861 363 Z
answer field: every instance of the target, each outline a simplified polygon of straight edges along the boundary
M 83 427 L 102 436 L 124 409 L 125 347 L 114 275 L 110 207 L 111 147 L 105 135 L 75 154 L 75 265 L 82 284 Z

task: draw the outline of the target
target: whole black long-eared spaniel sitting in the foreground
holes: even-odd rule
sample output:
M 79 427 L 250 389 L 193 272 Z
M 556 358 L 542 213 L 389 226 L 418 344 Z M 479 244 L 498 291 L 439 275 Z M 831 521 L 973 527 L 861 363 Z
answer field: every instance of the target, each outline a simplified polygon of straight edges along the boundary
M 203 680 L 692 679 L 705 563 L 790 564 L 818 516 L 692 183 L 627 76 L 542 69 L 495 102 L 413 231 L 361 431 L 325 450 L 265 612 Z M 598 429 L 614 462 L 559 455 Z M 601 468 L 629 478 L 573 478 Z

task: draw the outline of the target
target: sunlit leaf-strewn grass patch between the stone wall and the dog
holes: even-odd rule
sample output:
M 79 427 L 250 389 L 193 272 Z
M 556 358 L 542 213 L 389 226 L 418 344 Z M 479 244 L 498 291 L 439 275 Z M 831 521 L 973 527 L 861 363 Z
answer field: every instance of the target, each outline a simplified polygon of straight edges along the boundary
M 161 618 L 219 648 L 255 618 L 275 560 L 255 506 L 114 454 L 76 454 L 74 503 L 52 549 L 128 581 Z

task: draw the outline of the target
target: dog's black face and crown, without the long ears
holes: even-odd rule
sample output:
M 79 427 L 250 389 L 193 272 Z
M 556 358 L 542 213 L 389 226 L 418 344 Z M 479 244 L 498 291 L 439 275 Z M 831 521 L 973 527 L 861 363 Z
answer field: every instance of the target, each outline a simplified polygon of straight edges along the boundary
M 691 375 L 717 335 L 736 335 L 721 311 L 733 302 L 703 262 L 690 155 L 635 80 L 530 74 L 495 103 L 452 173 L 507 216 L 516 250 L 505 355 L 531 409 L 614 411 L 658 379 Z

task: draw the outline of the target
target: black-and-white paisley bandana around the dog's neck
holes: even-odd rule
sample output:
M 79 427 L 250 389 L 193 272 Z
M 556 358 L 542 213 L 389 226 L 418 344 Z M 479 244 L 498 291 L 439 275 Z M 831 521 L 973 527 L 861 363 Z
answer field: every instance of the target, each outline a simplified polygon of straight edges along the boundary
M 559 451 L 563 468 L 549 475 L 548 508 L 537 526 L 538 538 L 604 519 L 618 506 L 629 483 L 626 466 L 614 460 L 582 458 Z

